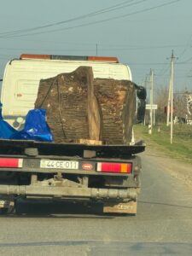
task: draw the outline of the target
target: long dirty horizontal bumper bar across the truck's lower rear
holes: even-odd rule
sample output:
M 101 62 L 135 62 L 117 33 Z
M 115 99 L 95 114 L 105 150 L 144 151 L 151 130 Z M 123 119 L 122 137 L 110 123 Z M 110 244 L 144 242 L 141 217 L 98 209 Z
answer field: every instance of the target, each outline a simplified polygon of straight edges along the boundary
M 70 188 L 38 185 L 0 185 L 0 195 L 24 195 L 96 200 L 137 200 L 137 189 Z

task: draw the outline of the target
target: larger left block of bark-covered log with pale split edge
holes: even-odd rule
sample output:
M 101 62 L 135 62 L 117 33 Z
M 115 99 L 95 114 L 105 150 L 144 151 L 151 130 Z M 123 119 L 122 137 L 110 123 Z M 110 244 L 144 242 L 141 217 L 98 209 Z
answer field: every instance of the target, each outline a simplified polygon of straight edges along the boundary
M 66 139 L 100 140 L 101 117 L 94 95 L 91 67 L 41 80 L 35 108 L 47 110 L 47 122 L 55 142 Z

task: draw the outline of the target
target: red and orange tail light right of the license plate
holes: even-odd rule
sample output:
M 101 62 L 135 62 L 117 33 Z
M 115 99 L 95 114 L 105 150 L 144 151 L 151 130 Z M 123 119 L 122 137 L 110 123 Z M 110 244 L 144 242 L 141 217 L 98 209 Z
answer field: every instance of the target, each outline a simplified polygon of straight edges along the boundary
M 97 172 L 131 173 L 131 163 L 97 163 Z

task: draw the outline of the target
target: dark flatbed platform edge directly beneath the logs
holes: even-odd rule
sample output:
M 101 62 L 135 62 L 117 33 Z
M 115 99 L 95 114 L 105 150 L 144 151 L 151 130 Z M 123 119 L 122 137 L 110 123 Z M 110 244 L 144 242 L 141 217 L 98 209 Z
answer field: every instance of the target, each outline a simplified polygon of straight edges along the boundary
M 38 148 L 39 154 L 42 155 L 83 154 L 84 150 L 90 150 L 95 151 L 96 154 L 118 156 L 142 153 L 145 150 L 145 143 L 141 141 L 135 145 L 87 145 L 80 143 L 44 143 L 29 140 L 0 139 L 0 154 L 4 154 L 6 150 L 13 151 L 14 154 L 23 154 L 26 148 Z

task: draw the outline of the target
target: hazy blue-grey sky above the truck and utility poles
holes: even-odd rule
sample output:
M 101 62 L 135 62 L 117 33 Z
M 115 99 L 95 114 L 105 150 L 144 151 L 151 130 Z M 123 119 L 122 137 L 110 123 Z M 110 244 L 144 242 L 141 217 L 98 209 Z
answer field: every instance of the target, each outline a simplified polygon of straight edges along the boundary
M 22 53 L 116 56 L 133 81 L 192 92 L 191 0 L 0 0 L 0 79 Z M 144 83 L 144 81 L 147 81 Z

